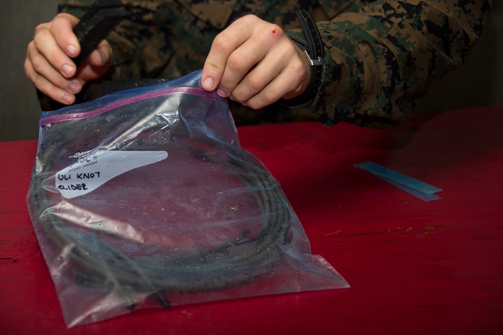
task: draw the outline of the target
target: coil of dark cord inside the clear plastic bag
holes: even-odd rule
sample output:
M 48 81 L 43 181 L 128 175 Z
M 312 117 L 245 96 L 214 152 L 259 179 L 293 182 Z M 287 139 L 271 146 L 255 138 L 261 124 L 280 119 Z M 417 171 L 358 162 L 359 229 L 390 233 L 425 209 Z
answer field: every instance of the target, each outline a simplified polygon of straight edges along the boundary
M 185 93 L 173 93 L 172 96 L 178 96 L 180 104 L 184 103 L 184 99 L 193 99 L 192 96 Z M 152 98 L 149 103 L 150 105 L 160 105 L 165 102 L 164 99 L 163 96 Z M 185 108 L 189 110 L 188 115 L 196 107 L 207 107 L 200 106 L 198 101 L 200 100 L 190 102 L 190 106 Z M 105 101 L 105 103 L 108 102 Z M 218 103 L 218 101 L 212 103 Z M 127 118 L 126 115 L 131 113 L 131 110 L 139 110 L 144 105 L 142 101 L 129 103 L 125 108 L 127 111 L 121 112 L 122 114 L 118 118 Z M 210 105 L 208 108 L 212 108 L 212 106 Z M 90 113 L 91 109 L 85 109 L 82 113 Z M 201 122 L 195 122 L 198 126 L 191 128 L 193 125 L 188 124 L 193 121 L 188 120 L 190 117 L 184 116 L 183 109 L 182 107 L 178 109 L 179 120 L 169 127 L 155 123 L 152 126 L 152 119 L 148 119 L 148 117 L 141 119 L 143 125 L 136 124 L 131 127 L 136 132 L 135 149 L 165 150 L 164 143 L 154 139 L 159 138 L 162 134 L 161 131 L 164 131 L 164 135 L 167 137 L 175 132 L 174 134 L 178 136 L 177 146 L 168 149 L 170 155 L 176 151 L 177 155 L 186 155 L 196 161 L 211 162 L 225 167 L 227 171 L 232 171 L 232 175 L 240 180 L 253 195 L 258 208 L 260 208 L 261 230 L 255 236 L 250 237 L 243 234 L 235 240 L 197 252 L 179 251 L 174 253 L 172 250 L 164 250 L 157 246 L 125 239 L 112 232 L 105 232 L 98 227 L 77 231 L 64 218 L 53 214 L 53 210 L 47 204 L 51 204 L 51 201 L 54 204 L 51 197 L 54 197 L 55 192 L 50 192 L 43 185 L 47 183 L 47 179 L 51 175 L 54 175 L 58 159 L 65 155 L 62 148 L 70 146 L 72 141 L 79 141 L 79 139 L 63 140 L 61 137 L 53 140 L 41 140 L 39 143 L 28 200 L 33 212 L 39 213 L 40 227 L 54 246 L 60 250 L 61 255 L 64 255 L 67 263 L 71 264 L 71 272 L 76 283 L 94 291 L 112 291 L 122 297 L 124 304 L 130 309 L 135 308 L 134 296 L 138 293 L 155 297 L 161 306 L 168 306 L 170 301 L 166 296 L 170 294 L 213 292 L 254 281 L 272 272 L 282 258 L 281 246 L 289 243 L 289 234 L 291 234 L 289 204 L 278 183 L 267 169 L 258 165 L 253 156 L 239 147 L 225 141 L 215 140 L 212 137 L 196 134 L 200 143 L 197 147 L 190 146 L 191 139 L 196 136 L 194 133 L 199 132 L 197 127 L 201 125 Z M 158 110 L 155 110 L 152 115 L 159 115 L 159 113 Z M 66 130 L 73 129 L 75 131 L 75 129 L 82 129 L 87 125 L 91 128 L 90 138 L 92 138 L 95 133 L 93 133 L 94 129 L 91 126 L 97 123 L 91 119 L 53 123 L 48 127 L 60 126 L 65 127 Z M 145 122 L 145 120 L 150 121 Z M 101 125 L 103 125 L 103 121 Z M 152 127 L 155 129 L 152 130 Z M 141 131 L 138 132 L 138 129 Z M 142 138 L 142 134 L 152 133 L 155 135 L 143 136 Z M 121 136 L 128 138 L 129 135 L 122 134 Z M 131 148 L 130 136 L 126 142 L 120 142 L 116 140 L 114 145 L 109 145 L 109 149 Z M 213 150 L 207 150 L 208 148 L 213 148 Z M 71 149 L 68 149 L 68 152 L 71 152 Z M 222 155 L 222 152 L 225 154 Z M 58 201 L 61 199 L 59 198 Z M 107 243 L 109 238 L 115 242 L 113 244 Z M 122 243 L 116 243 L 116 241 L 122 241 Z M 119 248 L 117 247 L 119 244 L 128 247 Z M 130 249 L 139 249 L 143 252 L 132 255 L 125 251 Z

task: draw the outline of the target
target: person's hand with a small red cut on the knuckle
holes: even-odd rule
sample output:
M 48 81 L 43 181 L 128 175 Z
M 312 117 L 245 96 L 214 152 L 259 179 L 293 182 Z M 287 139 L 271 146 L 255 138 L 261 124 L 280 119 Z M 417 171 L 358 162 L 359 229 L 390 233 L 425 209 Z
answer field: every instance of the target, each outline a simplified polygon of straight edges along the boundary
M 206 90 L 217 89 L 254 109 L 290 99 L 309 86 L 307 58 L 283 30 L 254 15 L 232 23 L 215 37 L 203 67 Z

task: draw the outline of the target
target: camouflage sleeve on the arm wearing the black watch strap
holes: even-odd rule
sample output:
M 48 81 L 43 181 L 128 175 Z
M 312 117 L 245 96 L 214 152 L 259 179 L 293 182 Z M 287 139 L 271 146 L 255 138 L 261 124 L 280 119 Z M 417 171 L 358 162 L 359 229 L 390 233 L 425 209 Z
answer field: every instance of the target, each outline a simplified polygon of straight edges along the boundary
M 318 22 L 325 65 L 318 94 L 302 106 L 330 126 L 400 125 L 418 100 L 462 65 L 492 0 L 384 0 Z M 299 29 L 286 32 L 305 44 Z

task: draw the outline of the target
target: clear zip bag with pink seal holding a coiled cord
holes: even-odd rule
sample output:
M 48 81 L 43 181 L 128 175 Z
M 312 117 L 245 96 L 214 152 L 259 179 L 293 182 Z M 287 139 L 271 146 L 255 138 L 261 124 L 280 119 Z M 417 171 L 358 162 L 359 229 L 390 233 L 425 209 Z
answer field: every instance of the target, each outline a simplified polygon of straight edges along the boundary
M 200 76 L 42 114 L 27 203 L 68 327 L 349 287 Z

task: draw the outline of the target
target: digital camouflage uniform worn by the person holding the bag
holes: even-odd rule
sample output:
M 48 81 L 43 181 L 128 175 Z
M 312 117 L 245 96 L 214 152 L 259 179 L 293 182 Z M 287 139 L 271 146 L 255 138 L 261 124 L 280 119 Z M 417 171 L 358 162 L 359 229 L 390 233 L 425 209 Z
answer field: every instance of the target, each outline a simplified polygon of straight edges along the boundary
M 93 0 L 66 0 L 81 17 Z M 318 94 L 292 108 L 251 110 L 231 101 L 236 124 L 292 121 L 309 113 L 330 126 L 373 128 L 403 122 L 418 99 L 463 64 L 482 32 L 492 0 L 138 0 L 108 41 L 106 80 L 173 79 L 201 69 L 215 36 L 246 14 L 282 27 L 303 44 L 294 10 L 317 22 L 325 64 Z

